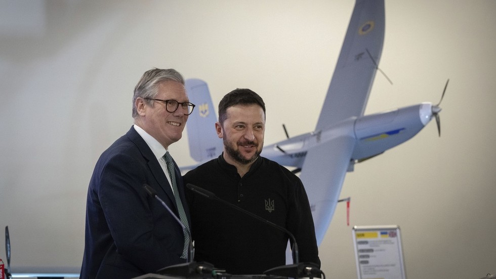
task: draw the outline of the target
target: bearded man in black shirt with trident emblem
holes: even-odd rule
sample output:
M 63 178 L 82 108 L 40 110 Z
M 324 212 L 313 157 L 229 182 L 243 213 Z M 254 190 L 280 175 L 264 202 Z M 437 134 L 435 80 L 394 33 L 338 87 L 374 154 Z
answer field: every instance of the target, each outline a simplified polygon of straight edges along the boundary
M 320 266 L 315 228 L 301 180 L 261 157 L 265 103 L 249 89 L 228 93 L 219 104 L 217 135 L 224 152 L 184 176 L 222 200 L 250 211 L 295 235 L 300 262 Z M 286 263 L 286 233 L 222 203 L 186 191 L 195 260 L 231 274 L 261 274 Z

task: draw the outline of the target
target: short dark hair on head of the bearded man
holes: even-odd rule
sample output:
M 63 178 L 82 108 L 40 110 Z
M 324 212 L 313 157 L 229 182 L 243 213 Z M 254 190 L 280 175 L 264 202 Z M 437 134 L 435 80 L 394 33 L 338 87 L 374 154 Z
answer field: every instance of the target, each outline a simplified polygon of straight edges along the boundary
M 262 97 L 250 89 L 236 88 L 227 93 L 219 103 L 219 123 L 221 125 L 227 118 L 226 110 L 234 105 L 259 105 L 265 114 L 265 103 Z

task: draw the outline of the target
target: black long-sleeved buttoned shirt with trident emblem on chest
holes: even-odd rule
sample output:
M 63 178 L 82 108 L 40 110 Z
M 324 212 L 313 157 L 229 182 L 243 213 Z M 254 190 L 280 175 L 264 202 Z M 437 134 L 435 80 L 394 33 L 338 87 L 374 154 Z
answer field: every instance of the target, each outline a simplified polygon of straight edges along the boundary
M 295 235 L 300 262 L 320 265 L 315 228 L 301 180 L 279 164 L 259 157 L 242 178 L 221 154 L 184 176 L 219 198 L 250 211 Z M 195 260 L 231 274 L 261 274 L 284 265 L 286 233 L 221 202 L 186 190 Z

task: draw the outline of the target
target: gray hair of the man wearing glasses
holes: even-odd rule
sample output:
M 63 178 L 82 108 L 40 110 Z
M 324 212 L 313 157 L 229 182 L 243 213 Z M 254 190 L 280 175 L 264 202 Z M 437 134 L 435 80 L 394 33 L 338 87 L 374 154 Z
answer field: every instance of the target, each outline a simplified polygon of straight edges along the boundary
M 138 98 L 155 98 L 158 94 L 158 86 L 161 82 L 178 82 L 184 85 L 184 78 L 175 69 L 158 69 L 153 68 L 146 71 L 143 76 L 141 76 L 140 81 L 134 88 L 133 95 L 133 118 L 138 117 L 138 111 L 136 110 L 136 99 Z M 152 105 L 153 101 L 144 100 L 147 104 Z

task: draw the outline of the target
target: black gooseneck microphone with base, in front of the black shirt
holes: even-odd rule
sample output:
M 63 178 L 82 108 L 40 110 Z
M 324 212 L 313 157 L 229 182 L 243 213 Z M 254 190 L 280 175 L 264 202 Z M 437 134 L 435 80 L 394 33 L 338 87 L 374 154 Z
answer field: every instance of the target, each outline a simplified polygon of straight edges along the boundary
M 193 191 L 199 195 L 202 195 L 206 198 L 209 198 L 210 200 L 215 200 L 215 201 L 221 202 L 221 203 L 223 203 L 223 204 L 225 204 L 231 208 L 234 208 L 234 209 L 239 210 L 239 211 L 241 211 L 241 212 L 243 212 L 249 216 L 252 216 L 255 219 L 258 219 L 258 220 L 260 220 L 266 224 L 269 224 L 272 227 L 275 227 L 279 230 L 282 230 L 291 238 L 291 240 L 293 241 L 293 246 L 291 249 L 293 251 L 293 253 L 292 253 L 293 264 L 283 265 L 283 266 L 278 266 L 278 267 L 268 269 L 268 270 L 264 271 L 264 274 L 293 277 L 293 278 L 298 278 L 298 277 L 303 277 L 303 276 L 314 277 L 314 275 L 323 274 L 322 271 L 320 271 L 320 269 L 314 263 L 299 263 L 299 255 L 300 254 L 298 251 L 298 245 L 296 243 L 296 238 L 293 235 L 293 233 L 288 231 L 286 228 L 281 227 L 277 224 L 274 224 L 274 223 L 270 222 L 269 220 L 266 220 L 266 219 L 254 214 L 250 211 L 247 211 L 247 210 L 242 209 L 236 205 L 233 205 L 227 201 L 224 201 L 224 200 L 222 200 L 222 198 L 218 197 L 217 195 L 215 195 L 213 192 L 211 192 L 209 190 L 205 190 L 204 188 L 195 186 L 191 183 L 187 183 L 186 188 L 190 189 L 191 191 Z

